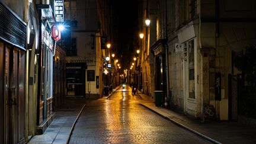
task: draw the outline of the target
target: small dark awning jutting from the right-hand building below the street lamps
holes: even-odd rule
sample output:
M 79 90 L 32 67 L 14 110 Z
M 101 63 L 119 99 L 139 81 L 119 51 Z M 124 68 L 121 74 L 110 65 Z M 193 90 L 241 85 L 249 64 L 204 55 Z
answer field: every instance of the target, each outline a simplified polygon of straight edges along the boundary
M 151 52 L 154 56 L 161 55 L 165 53 L 165 44 L 167 43 L 167 39 L 159 39 L 151 46 Z

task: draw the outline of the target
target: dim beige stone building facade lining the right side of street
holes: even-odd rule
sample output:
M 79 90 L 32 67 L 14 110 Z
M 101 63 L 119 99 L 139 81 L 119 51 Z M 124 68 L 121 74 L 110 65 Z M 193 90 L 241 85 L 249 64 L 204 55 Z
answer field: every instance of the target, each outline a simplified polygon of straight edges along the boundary
M 197 119 L 207 119 L 205 110 L 213 107 L 215 119 L 238 120 L 239 88 L 232 78 L 242 72 L 233 56 L 255 44 L 255 2 L 142 2 L 149 12 L 142 19 L 151 19 L 144 33 L 150 34 L 153 54 L 152 89 L 164 91 L 170 107 Z

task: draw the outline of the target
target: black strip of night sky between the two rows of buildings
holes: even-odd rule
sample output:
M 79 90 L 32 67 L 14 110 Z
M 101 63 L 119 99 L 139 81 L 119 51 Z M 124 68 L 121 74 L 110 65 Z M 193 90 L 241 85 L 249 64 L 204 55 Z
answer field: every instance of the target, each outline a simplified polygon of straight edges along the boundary
M 114 24 L 117 28 L 117 56 L 122 68 L 129 68 L 137 39 L 137 0 L 113 0 Z M 121 57 L 122 56 L 122 57 Z

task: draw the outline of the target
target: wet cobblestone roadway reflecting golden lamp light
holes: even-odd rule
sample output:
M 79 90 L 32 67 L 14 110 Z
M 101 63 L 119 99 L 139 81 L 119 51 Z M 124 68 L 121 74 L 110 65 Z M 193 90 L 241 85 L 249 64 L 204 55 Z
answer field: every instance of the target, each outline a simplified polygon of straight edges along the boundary
M 209 143 L 139 105 L 126 88 L 88 103 L 69 143 Z

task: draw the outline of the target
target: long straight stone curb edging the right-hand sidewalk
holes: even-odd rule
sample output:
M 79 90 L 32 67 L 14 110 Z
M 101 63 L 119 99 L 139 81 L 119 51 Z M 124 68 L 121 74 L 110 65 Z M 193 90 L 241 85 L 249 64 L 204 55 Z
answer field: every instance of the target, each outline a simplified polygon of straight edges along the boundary
M 172 123 L 174 123 L 174 124 L 176 124 L 176 125 L 178 125 L 178 126 L 180 126 L 180 127 L 183 127 L 184 129 L 186 129 L 186 130 L 188 130 L 188 131 L 190 131 L 190 132 L 196 134 L 197 136 L 200 136 L 200 137 L 202 137 L 203 139 L 208 140 L 209 142 L 220 144 L 220 142 L 218 142 L 217 140 L 214 140 L 214 139 L 212 139 L 212 138 L 210 138 L 210 137 L 208 137 L 208 136 L 206 136 L 206 135 L 203 135 L 202 133 L 199 133 L 199 132 L 197 132 L 196 130 L 190 129 L 190 127 L 187 127 L 187 126 L 185 126 L 184 124 L 179 123 L 178 121 L 172 120 L 172 119 L 170 119 L 169 117 L 166 117 L 166 116 L 164 116 L 164 115 L 161 114 L 161 113 L 158 113 L 157 111 L 155 111 L 155 110 L 153 110 L 153 109 L 147 107 L 147 106 L 144 105 L 144 104 L 140 104 L 140 105 L 142 105 L 142 106 L 145 107 L 145 108 L 148 108 L 149 110 L 153 111 L 154 113 L 158 114 L 159 116 L 164 117 L 165 119 L 170 120 Z

